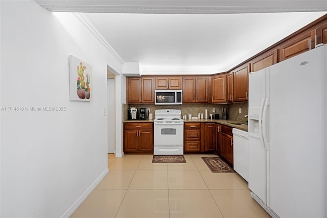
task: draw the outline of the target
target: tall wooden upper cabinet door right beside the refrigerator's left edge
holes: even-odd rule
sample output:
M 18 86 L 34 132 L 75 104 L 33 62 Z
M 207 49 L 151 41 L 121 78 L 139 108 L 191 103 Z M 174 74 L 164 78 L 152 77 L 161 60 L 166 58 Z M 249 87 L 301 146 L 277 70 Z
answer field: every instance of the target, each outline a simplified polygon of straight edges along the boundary
M 247 101 L 249 67 L 243 66 L 234 71 L 234 101 Z

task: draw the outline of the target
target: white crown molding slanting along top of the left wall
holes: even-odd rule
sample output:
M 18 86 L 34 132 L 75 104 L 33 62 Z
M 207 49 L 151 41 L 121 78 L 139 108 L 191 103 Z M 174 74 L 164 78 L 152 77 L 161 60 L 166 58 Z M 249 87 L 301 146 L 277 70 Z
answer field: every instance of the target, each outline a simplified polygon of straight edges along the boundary
M 81 21 L 81 23 L 102 43 L 102 45 L 121 63 L 124 64 L 123 58 L 112 48 L 105 37 L 94 26 L 91 20 L 83 13 L 74 13 L 74 15 Z

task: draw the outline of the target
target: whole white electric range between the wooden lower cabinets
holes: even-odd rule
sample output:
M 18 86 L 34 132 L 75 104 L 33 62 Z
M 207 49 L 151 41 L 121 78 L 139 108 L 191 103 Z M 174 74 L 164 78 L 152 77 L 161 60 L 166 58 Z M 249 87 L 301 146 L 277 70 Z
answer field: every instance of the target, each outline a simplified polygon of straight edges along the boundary
M 154 155 L 184 154 L 184 121 L 181 111 L 160 109 L 155 111 Z

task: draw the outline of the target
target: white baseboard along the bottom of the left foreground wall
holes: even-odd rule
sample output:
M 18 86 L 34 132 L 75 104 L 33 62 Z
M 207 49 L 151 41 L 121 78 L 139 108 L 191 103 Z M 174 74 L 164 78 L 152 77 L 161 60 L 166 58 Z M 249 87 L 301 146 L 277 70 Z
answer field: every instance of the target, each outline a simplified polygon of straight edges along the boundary
M 77 208 L 83 203 L 83 201 L 87 198 L 87 196 L 97 187 L 97 185 L 103 180 L 103 178 L 109 172 L 108 168 L 106 168 L 101 175 L 84 191 L 84 193 L 74 202 L 74 204 L 68 208 L 68 210 L 61 216 L 61 218 L 68 218 Z

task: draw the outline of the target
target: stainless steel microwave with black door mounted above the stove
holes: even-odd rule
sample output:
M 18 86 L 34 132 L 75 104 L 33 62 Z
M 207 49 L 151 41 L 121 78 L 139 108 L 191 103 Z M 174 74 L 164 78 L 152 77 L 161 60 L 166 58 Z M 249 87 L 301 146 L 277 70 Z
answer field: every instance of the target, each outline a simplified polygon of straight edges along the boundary
M 155 90 L 155 103 L 158 105 L 182 104 L 183 92 L 182 90 Z

